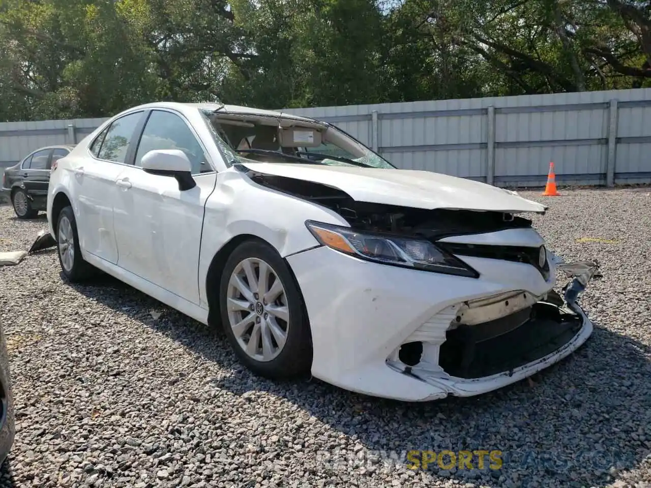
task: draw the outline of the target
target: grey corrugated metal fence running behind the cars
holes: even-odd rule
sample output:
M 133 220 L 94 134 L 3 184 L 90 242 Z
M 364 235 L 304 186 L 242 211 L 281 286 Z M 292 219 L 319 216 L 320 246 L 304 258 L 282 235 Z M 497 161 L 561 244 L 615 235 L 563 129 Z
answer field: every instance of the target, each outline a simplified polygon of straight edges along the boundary
M 651 88 L 287 109 L 336 124 L 397 167 L 500 186 L 651 183 Z M 0 124 L 0 165 L 105 119 Z

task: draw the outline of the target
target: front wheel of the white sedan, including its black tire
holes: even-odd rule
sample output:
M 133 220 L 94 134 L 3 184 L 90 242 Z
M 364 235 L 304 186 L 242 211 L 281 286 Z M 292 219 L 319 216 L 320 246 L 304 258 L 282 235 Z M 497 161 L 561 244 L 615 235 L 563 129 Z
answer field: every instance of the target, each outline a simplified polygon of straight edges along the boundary
M 270 269 L 273 278 L 269 278 L 265 286 L 270 303 L 266 303 L 264 295 L 254 295 L 256 285 L 249 288 L 244 278 L 247 264 L 251 265 L 249 271 L 254 281 L 259 278 L 261 264 Z M 236 276 L 240 277 L 240 286 L 232 284 Z M 275 294 L 278 291 L 274 286 L 276 280 L 282 290 L 278 295 Z M 250 292 L 249 299 L 242 293 L 242 286 Z M 240 308 L 234 308 L 232 300 L 236 300 Z M 219 305 L 230 346 L 240 363 L 249 370 L 269 379 L 290 379 L 309 372 L 312 338 L 303 297 L 288 265 L 273 247 L 259 241 L 246 241 L 230 254 L 219 283 Z M 233 327 L 237 323 L 243 325 Z M 256 342 L 251 344 L 253 334 Z M 247 353 L 247 346 L 251 346 L 250 351 L 255 349 L 255 353 Z

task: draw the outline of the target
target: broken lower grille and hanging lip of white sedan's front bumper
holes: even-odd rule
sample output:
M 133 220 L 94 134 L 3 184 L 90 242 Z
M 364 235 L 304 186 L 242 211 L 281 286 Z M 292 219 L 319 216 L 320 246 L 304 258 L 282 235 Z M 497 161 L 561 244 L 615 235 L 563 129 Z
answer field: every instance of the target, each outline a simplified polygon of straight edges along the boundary
M 592 323 L 577 297 L 600 275 L 596 261 L 557 265 L 572 278 L 562 296 L 550 291 L 533 305 L 521 301 L 518 310 L 497 318 L 493 302 L 486 308 L 490 314 L 484 323 L 452 322 L 438 340 L 403 344 L 387 364 L 447 394 L 469 396 L 514 383 L 558 362 L 592 333 Z M 463 310 L 463 305 L 456 310 Z

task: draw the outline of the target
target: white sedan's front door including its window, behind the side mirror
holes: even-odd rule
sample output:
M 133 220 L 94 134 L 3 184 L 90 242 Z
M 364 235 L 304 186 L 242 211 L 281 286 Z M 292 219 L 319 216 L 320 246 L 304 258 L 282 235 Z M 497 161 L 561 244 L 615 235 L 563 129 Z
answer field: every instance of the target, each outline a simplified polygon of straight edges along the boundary
M 185 152 L 197 186 L 180 191 L 174 178 L 141 169 L 142 157 L 156 149 Z M 217 180 L 206 154 L 182 116 L 152 111 L 138 144 L 135 166 L 125 167 L 118 175 L 120 190 L 114 203 L 118 266 L 197 305 L 204 206 Z

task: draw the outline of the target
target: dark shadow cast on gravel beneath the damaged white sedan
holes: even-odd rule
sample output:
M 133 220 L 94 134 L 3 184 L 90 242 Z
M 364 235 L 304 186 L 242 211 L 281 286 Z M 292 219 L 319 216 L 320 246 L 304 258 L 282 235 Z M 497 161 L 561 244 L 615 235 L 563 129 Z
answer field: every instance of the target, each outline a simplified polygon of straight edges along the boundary
M 637 468 L 651 452 L 651 347 L 600 327 L 574 355 L 534 375 L 533 384 L 521 381 L 474 398 L 402 403 L 316 380 L 255 377 L 236 362 L 223 336 L 118 280 L 103 276 L 74 288 L 230 368 L 232 375 L 215 379 L 215 388 L 284 398 L 368 450 L 324 452 L 324 474 L 376 470 L 383 460 L 408 471 L 411 461 L 426 456 L 432 476 L 484 486 L 596 487 Z M 165 310 L 159 320 L 150 317 L 152 308 Z M 411 450 L 419 453 L 408 459 Z M 478 450 L 486 452 L 483 468 L 477 454 L 472 469 L 460 463 L 460 451 Z M 495 450 L 501 452 L 500 469 L 490 468 L 488 452 Z M 439 458 L 442 451 L 454 457 Z

